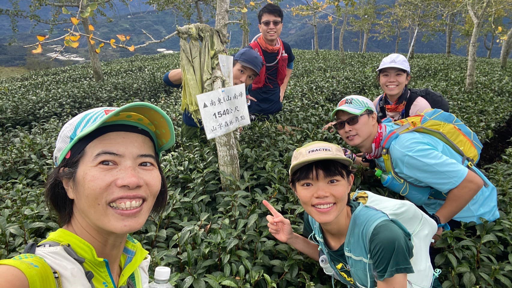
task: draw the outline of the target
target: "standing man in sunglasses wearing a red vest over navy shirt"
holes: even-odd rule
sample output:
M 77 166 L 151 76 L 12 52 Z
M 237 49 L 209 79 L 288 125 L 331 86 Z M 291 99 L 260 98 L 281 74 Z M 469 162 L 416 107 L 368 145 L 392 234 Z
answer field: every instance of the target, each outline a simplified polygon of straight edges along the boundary
M 283 108 L 283 97 L 293 69 L 290 45 L 279 37 L 283 29 L 283 10 L 267 4 L 258 12 L 261 36 L 249 46 L 263 59 L 260 75 L 249 91 L 249 113 L 273 115 Z

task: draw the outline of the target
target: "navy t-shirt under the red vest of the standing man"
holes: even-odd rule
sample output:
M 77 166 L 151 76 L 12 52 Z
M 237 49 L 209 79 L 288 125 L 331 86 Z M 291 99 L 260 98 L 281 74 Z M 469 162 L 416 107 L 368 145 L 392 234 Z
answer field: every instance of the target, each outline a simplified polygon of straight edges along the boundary
M 288 43 L 283 42 L 283 46 L 285 48 L 285 53 L 288 55 L 287 68 L 293 69 L 293 60 L 295 60 L 295 55 L 293 55 Z M 267 52 L 264 49 L 261 49 L 261 51 L 265 58 L 265 63 L 273 63 L 278 57 L 278 52 Z M 249 90 L 249 95 L 256 99 L 256 101 L 250 101 L 250 114 L 272 115 L 280 112 L 283 108 L 283 103 L 281 103 L 279 99 L 281 87 L 278 83 L 278 62 L 275 62 L 274 65 L 267 65 L 265 72 L 266 84 L 257 90 Z

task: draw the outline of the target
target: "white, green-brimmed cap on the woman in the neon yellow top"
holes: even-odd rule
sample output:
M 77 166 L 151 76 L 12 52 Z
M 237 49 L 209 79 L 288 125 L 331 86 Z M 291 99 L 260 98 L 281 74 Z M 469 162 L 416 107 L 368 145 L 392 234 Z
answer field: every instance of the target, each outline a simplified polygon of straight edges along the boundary
M 82 112 L 64 124 L 53 152 L 55 166 L 70 157 L 71 148 L 80 139 L 100 127 L 114 124 L 131 125 L 148 132 L 158 157 L 175 142 L 173 122 L 162 109 L 151 103 L 134 102 L 119 108 L 98 107 Z

